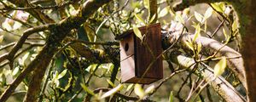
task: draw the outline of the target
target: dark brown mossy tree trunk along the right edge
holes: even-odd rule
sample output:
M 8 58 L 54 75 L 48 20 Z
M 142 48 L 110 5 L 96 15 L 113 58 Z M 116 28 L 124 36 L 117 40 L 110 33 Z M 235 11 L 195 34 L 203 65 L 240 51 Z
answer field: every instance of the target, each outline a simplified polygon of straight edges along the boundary
M 246 0 L 234 2 L 234 8 L 239 17 L 241 33 L 241 54 L 246 67 L 247 98 L 256 102 L 256 1 Z

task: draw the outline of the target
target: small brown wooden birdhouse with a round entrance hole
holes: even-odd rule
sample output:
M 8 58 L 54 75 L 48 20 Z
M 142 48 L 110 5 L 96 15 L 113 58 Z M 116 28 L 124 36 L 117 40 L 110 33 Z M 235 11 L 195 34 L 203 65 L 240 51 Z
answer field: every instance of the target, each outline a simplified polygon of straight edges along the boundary
M 160 23 L 140 27 L 143 40 L 133 30 L 116 37 L 120 46 L 121 81 L 148 84 L 163 77 Z M 151 50 L 151 51 L 150 51 Z

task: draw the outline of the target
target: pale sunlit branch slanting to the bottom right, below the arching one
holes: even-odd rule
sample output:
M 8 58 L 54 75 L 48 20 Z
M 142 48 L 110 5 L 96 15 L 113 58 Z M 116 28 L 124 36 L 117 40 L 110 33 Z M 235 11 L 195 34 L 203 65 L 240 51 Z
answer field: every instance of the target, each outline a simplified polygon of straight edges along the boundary
M 185 57 L 183 55 L 174 55 L 175 61 L 177 65 L 181 65 L 184 68 L 189 68 L 190 70 L 193 70 L 193 66 L 195 65 L 195 60 L 192 58 Z M 202 63 L 203 64 L 203 63 Z M 203 64 L 207 69 L 204 69 L 203 66 L 200 67 L 200 69 L 203 69 L 201 71 L 201 75 L 203 75 L 204 79 L 206 79 L 206 82 L 210 82 L 210 85 L 212 88 L 226 101 L 228 102 L 242 102 L 246 101 L 237 91 L 236 88 L 233 88 L 233 86 L 225 81 L 223 77 L 214 77 L 214 73 L 212 71 L 212 68 L 210 68 L 208 65 Z

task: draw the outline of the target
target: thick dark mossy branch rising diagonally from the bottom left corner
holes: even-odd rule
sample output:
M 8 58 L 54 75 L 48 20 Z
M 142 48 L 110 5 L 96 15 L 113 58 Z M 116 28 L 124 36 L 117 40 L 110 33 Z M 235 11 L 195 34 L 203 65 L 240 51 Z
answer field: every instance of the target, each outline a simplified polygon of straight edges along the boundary
M 14 92 L 15 88 L 22 82 L 22 80 L 26 77 L 28 73 L 35 69 L 41 69 L 46 70 L 46 66 L 49 65 L 50 60 L 55 54 L 55 51 L 58 47 L 58 43 L 61 42 L 64 37 L 67 37 L 67 32 L 71 31 L 73 28 L 78 28 L 81 24 L 84 23 L 87 18 L 93 14 L 97 8 L 101 7 L 103 4 L 110 2 L 111 0 L 94 0 L 94 1 L 86 1 L 86 3 L 83 4 L 82 10 L 79 11 L 79 14 L 76 14 L 74 16 L 70 16 L 65 20 L 62 20 L 60 23 L 53 26 L 53 28 L 50 30 L 51 35 L 49 36 L 48 41 L 46 42 L 44 48 L 36 59 L 32 60 L 32 62 L 24 69 L 24 71 L 21 71 L 20 75 L 15 79 L 14 82 L 12 82 L 9 87 L 4 91 L 4 93 L 1 95 L 0 101 L 6 101 L 9 96 Z M 17 3 L 13 1 L 14 3 Z M 20 1 L 19 1 L 20 2 Z M 40 73 L 40 71 L 35 71 Z M 34 75 L 36 75 L 35 73 Z M 35 79 L 36 80 L 36 79 Z M 42 79 L 36 84 L 41 84 Z M 35 82 L 32 82 L 35 83 Z M 32 86 L 32 85 L 30 85 Z M 30 87 L 32 88 L 32 87 Z M 37 88 L 40 89 L 40 88 Z M 34 90 L 36 92 L 39 92 L 37 90 Z M 38 94 L 38 93 L 37 93 Z M 35 97 L 38 96 L 37 94 L 26 94 L 26 97 Z M 36 98 L 31 98 L 36 99 Z M 35 101 L 35 100 L 25 100 L 25 101 Z

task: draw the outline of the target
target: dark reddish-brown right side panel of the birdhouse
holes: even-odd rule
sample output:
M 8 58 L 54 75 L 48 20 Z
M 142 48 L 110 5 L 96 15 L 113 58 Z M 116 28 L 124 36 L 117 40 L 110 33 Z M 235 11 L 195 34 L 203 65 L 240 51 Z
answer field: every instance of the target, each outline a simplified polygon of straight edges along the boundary
M 160 35 L 160 24 L 148 26 L 148 28 L 140 28 L 142 34 L 146 34 L 145 43 L 148 44 L 148 47 L 154 53 L 153 55 L 149 52 L 148 48 L 141 44 L 141 40 L 136 38 L 136 76 L 142 77 L 143 73 L 147 70 L 148 65 L 152 63 L 154 58 L 156 58 L 162 52 L 161 48 L 161 35 Z M 144 77 L 146 78 L 162 78 L 163 69 L 162 69 L 162 59 L 157 59 L 154 62 L 154 65 L 149 68 L 148 72 Z

